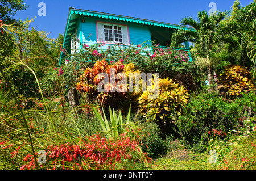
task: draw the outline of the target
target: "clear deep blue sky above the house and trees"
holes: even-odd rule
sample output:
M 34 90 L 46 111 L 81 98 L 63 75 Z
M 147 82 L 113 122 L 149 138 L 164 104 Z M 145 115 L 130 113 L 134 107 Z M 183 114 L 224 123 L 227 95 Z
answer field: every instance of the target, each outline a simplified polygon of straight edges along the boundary
M 46 16 L 38 15 L 40 2 L 46 4 Z M 31 26 L 51 32 L 49 36 L 56 39 L 59 34 L 64 34 L 69 7 L 180 24 L 183 18 L 196 19 L 199 11 L 209 11 L 212 8 L 209 7 L 210 2 L 216 3 L 218 11 L 225 11 L 231 9 L 234 0 L 25 0 L 28 9 L 19 11 L 15 18 L 25 20 L 36 17 Z M 242 7 L 251 2 L 253 0 L 240 0 Z

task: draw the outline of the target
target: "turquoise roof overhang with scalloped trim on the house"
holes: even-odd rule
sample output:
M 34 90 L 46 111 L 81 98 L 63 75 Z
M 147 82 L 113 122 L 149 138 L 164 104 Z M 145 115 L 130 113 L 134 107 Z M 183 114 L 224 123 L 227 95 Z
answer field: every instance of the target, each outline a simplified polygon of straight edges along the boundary
M 64 34 L 64 43 L 63 43 L 64 48 L 67 47 L 67 45 L 69 45 L 69 43 L 70 43 L 69 33 L 72 33 L 75 30 L 77 19 L 78 19 L 79 15 L 102 18 L 102 19 L 112 19 L 112 20 L 118 20 L 118 21 L 121 21 L 121 22 L 139 23 L 139 24 L 145 24 L 145 25 L 148 25 L 148 26 L 173 28 L 173 29 L 177 29 L 177 30 L 178 29 L 195 30 L 191 27 L 179 26 L 177 24 L 163 23 L 163 22 L 157 22 L 157 21 L 154 21 L 154 20 L 133 18 L 133 17 L 129 17 L 129 16 L 109 14 L 109 13 L 105 13 L 105 12 L 81 10 L 81 9 L 75 9 L 73 7 L 70 7 L 69 8 L 68 20 L 67 20 L 67 24 L 66 24 L 66 28 L 65 28 L 65 34 Z M 64 53 L 61 52 L 59 65 L 60 65 L 61 59 L 63 57 L 64 57 Z

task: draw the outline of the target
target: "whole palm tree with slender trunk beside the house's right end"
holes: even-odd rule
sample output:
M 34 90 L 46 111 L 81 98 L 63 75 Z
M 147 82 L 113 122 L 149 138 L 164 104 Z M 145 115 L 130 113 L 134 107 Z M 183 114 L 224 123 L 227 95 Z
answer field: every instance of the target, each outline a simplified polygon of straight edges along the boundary
M 212 81 L 212 58 L 213 45 L 218 44 L 220 47 L 224 42 L 233 43 L 232 39 L 222 35 L 219 36 L 220 22 L 226 17 L 226 12 L 217 12 L 215 15 L 208 15 L 207 11 L 201 11 L 198 14 L 198 20 L 193 18 L 184 18 L 181 24 L 184 26 L 192 26 L 195 30 L 183 30 L 175 32 L 172 36 L 172 47 L 178 47 L 185 41 L 196 43 L 201 54 L 208 62 L 208 81 L 213 85 Z M 213 91 L 213 87 L 211 88 Z

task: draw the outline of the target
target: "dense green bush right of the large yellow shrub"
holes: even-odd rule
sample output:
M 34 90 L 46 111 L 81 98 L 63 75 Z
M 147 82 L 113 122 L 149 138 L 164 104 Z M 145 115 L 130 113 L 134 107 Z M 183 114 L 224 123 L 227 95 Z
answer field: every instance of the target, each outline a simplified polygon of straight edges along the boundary
M 243 104 L 230 102 L 214 94 L 193 94 L 183 108 L 176 125 L 185 143 L 196 151 L 204 151 L 210 138 L 224 138 L 238 127 Z

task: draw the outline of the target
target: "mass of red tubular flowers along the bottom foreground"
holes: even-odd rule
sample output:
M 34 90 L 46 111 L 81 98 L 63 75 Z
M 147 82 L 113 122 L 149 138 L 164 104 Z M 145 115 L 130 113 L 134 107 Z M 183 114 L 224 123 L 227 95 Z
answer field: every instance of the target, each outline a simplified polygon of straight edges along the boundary
M 127 131 L 115 141 L 97 134 L 82 138 L 77 144 L 67 142 L 59 146 L 47 146 L 44 149 L 46 162 L 52 165 L 53 170 L 139 169 L 137 166 L 150 166 L 151 159 L 141 151 L 142 142 L 131 139 L 129 130 Z M 35 169 L 32 155 L 26 155 L 23 160 L 27 163 L 22 165 L 20 170 Z M 139 163 L 134 164 L 136 162 Z M 40 166 L 46 167 L 46 165 Z

